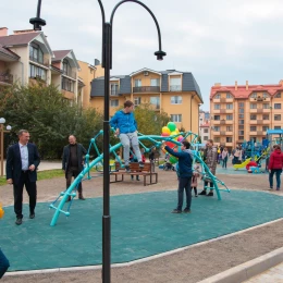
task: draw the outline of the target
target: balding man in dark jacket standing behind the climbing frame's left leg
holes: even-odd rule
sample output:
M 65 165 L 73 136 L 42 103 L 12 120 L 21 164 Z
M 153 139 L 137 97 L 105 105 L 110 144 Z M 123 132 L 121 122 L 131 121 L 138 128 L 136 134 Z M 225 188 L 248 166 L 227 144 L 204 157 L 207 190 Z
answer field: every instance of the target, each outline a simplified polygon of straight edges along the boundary
M 76 137 L 71 135 L 69 137 L 69 145 L 64 147 L 63 150 L 63 160 L 62 160 L 62 169 L 65 172 L 66 179 L 66 188 L 71 186 L 72 176 L 76 179 L 78 174 L 83 171 L 84 159 L 83 156 L 86 155 L 87 151 L 83 147 L 83 145 L 76 143 Z M 85 200 L 83 196 L 83 187 L 82 183 L 78 184 L 78 198 Z M 71 200 L 71 197 L 69 197 Z

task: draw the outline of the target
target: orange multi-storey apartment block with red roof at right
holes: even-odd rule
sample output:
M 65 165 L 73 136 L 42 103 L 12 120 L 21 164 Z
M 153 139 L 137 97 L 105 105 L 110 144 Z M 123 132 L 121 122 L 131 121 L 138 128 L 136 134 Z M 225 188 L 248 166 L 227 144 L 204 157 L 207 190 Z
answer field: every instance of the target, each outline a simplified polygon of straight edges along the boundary
M 211 138 L 235 148 L 244 140 L 262 142 L 267 130 L 283 128 L 283 81 L 276 85 L 216 84 L 210 91 Z

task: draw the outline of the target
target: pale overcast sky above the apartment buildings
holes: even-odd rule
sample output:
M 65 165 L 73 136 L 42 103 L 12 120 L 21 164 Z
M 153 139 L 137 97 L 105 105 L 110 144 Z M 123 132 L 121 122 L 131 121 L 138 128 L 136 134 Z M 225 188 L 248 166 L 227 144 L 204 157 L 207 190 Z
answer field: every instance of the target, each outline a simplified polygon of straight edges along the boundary
M 283 0 L 142 0 L 156 15 L 162 35 L 162 62 L 156 25 L 136 3 L 116 10 L 111 75 L 143 67 L 192 72 L 209 110 L 209 93 L 222 85 L 278 84 L 283 78 Z M 102 0 L 106 19 L 118 1 Z M 32 28 L 37 0 L 0 1 L 0 26 Z M 101 12 L 96 0 L 42 0 L 42 28 L 53 50 L 73 49 L 78 60 L 101 59 Z

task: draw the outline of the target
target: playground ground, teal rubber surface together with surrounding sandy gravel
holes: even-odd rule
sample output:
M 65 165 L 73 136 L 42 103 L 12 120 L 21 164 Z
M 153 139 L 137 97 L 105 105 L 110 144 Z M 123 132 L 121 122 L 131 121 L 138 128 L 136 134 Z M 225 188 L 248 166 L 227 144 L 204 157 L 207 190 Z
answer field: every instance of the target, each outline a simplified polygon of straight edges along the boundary
M 282 218 L 282 193 L 268 192 L 267 175 L 232 173 L 235 171 L 231 168 L 231 160 L 229 163 L 227 172 L 219 165 L 218 176 L 229 185 L 231 193 L 221 193 L 222 200 L 217 200 L 217 196 L 194 198 L 190 214 L 170 213 L 176 202 L 177 181 L 173 171 L 156 169 L 159 183 L 151 186 L 145 187 L 140 181 L 130 180 L 124 184 L 111 184 L 113 263 L 188 247 L 142 263 L 113 268 L 113 282 L 184 282 L 185 279 L 198 282 L 283 245 L 279 236 L 283 221 L 219 238 Z M 48 206 L 64 184 L 63 177 L 38 182 L 38 201 L 41 204 L 38 204 L 34 222 L 26 217 L 22 226 L 15 226 L 12 208 L 7 208 L 0 222 L 0 242 L 3 247 L 11 248 L 7 253 L 12 263 L 11 271 L 101 263 L 102 179 L 85 181 L 88 199 L 75 200 L 71 216 L 66 219 L 61 213 L 58 224 L 52 227 L 49 224 L 53 210 Z M 11 192 L 10 186 L 0 187 L 2 202 L 11 206 L 12 193 L 7 192 Z M 24 202 L 27 202 L 26 198 Z M 87 233 L 82 233 L 82 230 Z M 16 238 L 23 238 L 23 235 L 25 244 L 17 246 Z M 207 239 L 212 241 L 205 242 Z M 2 281 L 100 282 L 101 271 L 8 275 Z

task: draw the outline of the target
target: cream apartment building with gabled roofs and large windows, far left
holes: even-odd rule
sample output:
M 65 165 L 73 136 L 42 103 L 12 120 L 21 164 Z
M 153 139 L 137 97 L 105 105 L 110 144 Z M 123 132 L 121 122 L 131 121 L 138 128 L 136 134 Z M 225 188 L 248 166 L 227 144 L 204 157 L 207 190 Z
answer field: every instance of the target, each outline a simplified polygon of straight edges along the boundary
M 73 50 L 52 51 L 42 32 L 0 28 L 0 86 L 13 83 L 53 84 L 71 102 L 77 102 L 84 87 Z

